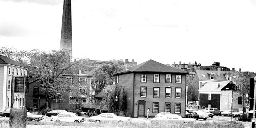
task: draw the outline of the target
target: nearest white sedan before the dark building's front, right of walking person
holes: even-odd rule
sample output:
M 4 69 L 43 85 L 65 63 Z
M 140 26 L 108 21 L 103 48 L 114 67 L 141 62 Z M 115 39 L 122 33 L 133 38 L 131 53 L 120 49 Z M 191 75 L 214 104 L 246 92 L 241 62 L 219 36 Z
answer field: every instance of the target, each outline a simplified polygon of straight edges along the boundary
M 172 115 L 167 115 L 167 116 L 162 116 L 162 117 L 155 117 L 155 118 L 152 118 L 151 121 L 194 123 L 194 122 L 196 122 L 196 119 L 182 118 L 181 116 L 175 116 L 174 114 L 172 114 Z

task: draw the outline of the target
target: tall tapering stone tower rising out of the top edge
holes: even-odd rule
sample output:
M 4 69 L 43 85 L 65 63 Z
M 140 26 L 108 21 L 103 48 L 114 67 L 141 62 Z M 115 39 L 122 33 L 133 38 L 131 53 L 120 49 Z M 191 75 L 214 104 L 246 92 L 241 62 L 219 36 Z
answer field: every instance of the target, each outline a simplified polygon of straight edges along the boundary
M 64 0 L 63 3 L 60 50 L 65 49 L 71 50 L 72 56 L 71 0 Z

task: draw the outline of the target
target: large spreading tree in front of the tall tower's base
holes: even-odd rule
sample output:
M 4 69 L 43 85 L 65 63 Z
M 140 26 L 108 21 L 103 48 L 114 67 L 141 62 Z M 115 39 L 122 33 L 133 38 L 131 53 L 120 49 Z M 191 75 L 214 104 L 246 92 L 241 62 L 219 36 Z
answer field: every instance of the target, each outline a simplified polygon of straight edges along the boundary
M 69 51 L 52 50 L 46 53 L 32 50 L 31 55 L 30 73 L 41 80 L 40 87 L 46 94 L 46 102 L 50 103 L 57 98 L 62 99 L 70 93 L 73 97 L 79 98 L 81 94 L 86 94 L 89 90 L 89 87 L 85 83 L 81 84 L 78 77 L 73 74 L 74 68 L 72 67 L 77 62 L 70 61 Z

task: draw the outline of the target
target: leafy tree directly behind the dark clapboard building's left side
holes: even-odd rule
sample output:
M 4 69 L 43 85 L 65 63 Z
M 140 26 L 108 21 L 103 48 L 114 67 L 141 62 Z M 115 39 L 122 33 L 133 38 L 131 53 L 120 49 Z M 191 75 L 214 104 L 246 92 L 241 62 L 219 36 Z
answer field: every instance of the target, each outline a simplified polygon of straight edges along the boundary
M 122 60 L 110 60 L 100 64 L 93 72 L 96 88 L 102 89 L 108 84 L 112 85 L 115 80 L 114 74 L 124 69 L 124 61 Z

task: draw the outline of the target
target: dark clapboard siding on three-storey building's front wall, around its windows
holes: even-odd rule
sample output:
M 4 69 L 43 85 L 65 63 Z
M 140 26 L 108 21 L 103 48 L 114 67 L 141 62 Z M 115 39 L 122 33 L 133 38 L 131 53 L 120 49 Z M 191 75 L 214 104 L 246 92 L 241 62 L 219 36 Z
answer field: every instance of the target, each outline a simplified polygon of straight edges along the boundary
M 156 73 L 154 73 L 156 74 Z M 171 103 L 171 113 L 174 114 L 175 103 L 181 103 L 180 116 L 185 116 L 185 102 L 186 102 L 186 74 L 182 75 L 182 82 L 176 83 L 176 74 L 172 74 L 172 82 L 166 83 L 166 74 L 160 74 L 160 82 L 154 83 L 154 74 L 147 74 L 147 82 L 141 82 L 141 73 L 135 74 L 135 96 L 134 102 L 138 100 L 145 100 L 145 109 L 150 108 L 150 116 L 155 116 L 159 112 L 165 111 L 165 102 Z M 168 73 L 169 74 L 169 73 Z M 119 78 L 120 80 L 120 78 Z M 171 98 L 165 98 L 165 88 L 170 86 Z M 146 97 L 140 97 L 140 87 L 147 87 Z M 153 98 L 153 88 L 159 87 L 159 98 Z M 175 88 L 181 88 L 181 98 L 175 98 Z M 159 102 L 158 113 L 153 113 L 153 102 Z M 147 109 L 146 109 L 147 110 Z M 145 111 L 146 111 L 145 110 Z M 146 113 L 145 113 L 146 114 Z M 146 116 L 146 115 L 145 115 Z M 138 104 L 134 106 L 134 117 L 138 117 Z

